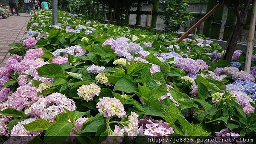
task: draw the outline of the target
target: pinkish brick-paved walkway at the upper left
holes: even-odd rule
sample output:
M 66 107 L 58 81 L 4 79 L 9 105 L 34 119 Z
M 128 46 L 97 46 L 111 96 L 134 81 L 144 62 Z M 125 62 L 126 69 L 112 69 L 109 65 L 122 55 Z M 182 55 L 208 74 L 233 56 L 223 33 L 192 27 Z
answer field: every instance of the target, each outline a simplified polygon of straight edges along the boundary
M 25 17 L 25 15 L 20 14 L 20 16 L 15 15 L 0 20 L 0 67 L 6 64 L 10 56 L 8 53 L 10 47 L 8 45 L 14 42 L 20 42 L 20 38 L 23 37 L 26 31 L 29 17 Z

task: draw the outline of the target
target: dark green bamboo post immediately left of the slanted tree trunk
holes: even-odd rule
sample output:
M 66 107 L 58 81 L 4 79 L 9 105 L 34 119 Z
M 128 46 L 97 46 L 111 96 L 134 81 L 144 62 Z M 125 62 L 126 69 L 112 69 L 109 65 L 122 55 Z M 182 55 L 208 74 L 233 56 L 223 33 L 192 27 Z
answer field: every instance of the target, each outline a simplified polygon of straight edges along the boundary
M 230 8 L 228 9 L 228 12 L 227 12 L 227 20 L 224 25 L 224 33 L 223 33 L 222 40 L 229 41 L 235 27 L 236 27 L 236 11 L 235 9 Z

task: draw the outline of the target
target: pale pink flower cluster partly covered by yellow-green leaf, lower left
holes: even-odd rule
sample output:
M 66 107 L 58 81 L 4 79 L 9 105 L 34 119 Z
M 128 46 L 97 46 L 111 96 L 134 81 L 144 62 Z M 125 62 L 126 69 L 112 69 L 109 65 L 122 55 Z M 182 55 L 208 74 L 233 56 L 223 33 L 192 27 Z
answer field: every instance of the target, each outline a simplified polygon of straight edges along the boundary
M 35 121 L 36 118 L 31 118 L 31 119 L 25 119 L 24 121 L 20 121 L 17 125 L 13 127 L 11 130 L 11 136 L 37 136 L 41 132 L 40 131 L 34 131 L 34 132 L 29 132 L 23 127 L 23 124 L 29 124 L 32 121 Z

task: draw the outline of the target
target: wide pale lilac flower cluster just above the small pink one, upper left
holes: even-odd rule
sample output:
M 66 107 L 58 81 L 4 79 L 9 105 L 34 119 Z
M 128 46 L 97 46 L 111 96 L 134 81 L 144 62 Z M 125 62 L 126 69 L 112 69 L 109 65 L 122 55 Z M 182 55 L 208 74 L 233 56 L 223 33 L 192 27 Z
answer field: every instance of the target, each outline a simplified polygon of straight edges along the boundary
M 67 54 L 71 54 L 73 56 L 84 56 L 86 51 L 80 45 L 75 45 L 68 48 L 57 49 L 56 51 L 52 52 L 54 56 L 60 56 L 61 53 L 64 53 L 65 57 L 68 56 Z

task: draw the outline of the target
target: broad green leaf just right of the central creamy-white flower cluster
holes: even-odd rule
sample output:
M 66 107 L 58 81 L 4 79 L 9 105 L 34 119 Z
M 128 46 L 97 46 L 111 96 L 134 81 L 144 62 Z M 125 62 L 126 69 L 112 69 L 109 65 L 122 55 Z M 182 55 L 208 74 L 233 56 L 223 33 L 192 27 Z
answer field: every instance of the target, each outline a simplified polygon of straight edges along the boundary
M 116 85 L 115 85 L 113 91 L 115 91 L 115 90 L 124 91 L 126 93 L 134 93 L 134 92 L 138 91 L 135 83 L 131 79 L 128 79 L 128 78 L 119 79 L 116 82 Z

